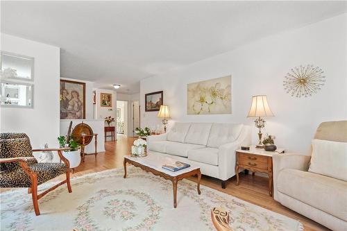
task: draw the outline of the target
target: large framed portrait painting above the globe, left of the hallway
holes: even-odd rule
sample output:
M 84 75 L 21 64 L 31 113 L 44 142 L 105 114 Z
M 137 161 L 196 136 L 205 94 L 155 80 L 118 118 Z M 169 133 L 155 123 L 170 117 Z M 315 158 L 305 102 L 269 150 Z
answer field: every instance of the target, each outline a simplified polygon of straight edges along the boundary
M 85 83 L 60 80 L 60 119 L 85 119 Z

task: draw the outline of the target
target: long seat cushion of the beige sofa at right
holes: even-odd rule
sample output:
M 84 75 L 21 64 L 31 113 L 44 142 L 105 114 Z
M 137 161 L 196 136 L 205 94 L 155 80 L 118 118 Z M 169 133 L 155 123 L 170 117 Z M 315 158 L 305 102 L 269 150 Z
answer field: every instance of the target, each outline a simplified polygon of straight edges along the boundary
M 308 171 L 284 169 L 277 188 L 307 205 L 347 221 L 347 182 Z

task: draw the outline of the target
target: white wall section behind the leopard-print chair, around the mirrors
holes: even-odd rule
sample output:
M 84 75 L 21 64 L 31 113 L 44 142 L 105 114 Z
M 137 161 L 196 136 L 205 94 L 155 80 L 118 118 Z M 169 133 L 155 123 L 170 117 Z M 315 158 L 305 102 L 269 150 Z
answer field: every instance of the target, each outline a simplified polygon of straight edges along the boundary
M 33 148 L 58 147 L 60 49 L 1 33 L 1 51 L 35 58 L 33 108 L 1 108 L 1 132 L 25 132 Z

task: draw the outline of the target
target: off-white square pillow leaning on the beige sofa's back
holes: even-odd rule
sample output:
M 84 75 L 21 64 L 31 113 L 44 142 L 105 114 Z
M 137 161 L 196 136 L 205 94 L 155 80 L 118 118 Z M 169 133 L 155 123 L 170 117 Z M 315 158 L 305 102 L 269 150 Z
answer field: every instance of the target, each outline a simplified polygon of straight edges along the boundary
M 347 181 L 347 142 L 313 139 L 308 171 Z

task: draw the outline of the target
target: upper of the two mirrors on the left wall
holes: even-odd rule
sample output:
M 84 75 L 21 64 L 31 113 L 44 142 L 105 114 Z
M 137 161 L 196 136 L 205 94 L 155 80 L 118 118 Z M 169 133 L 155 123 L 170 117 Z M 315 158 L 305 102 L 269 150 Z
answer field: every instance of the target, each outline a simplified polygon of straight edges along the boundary
M 1 78 L 33 80 L 34 58 L 1 51 Z

